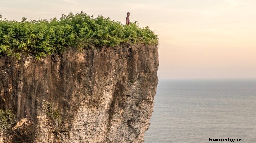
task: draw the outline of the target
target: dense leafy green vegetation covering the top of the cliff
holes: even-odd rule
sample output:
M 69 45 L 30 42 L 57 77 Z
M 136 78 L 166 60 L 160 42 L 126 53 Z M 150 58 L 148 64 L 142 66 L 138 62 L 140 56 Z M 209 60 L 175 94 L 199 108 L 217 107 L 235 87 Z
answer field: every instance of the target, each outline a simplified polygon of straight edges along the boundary
M 0 15 L 0 56 L 32 53 L 37 59 L 60 53 L 68 47 L 117 46 L 122 43 L 158 44 L 158 37 L 149 27 L 137 22 L 122 25 L 110 18 L 94 18 L 83 12 L 47 20 L 21 22 L 2 19 Z

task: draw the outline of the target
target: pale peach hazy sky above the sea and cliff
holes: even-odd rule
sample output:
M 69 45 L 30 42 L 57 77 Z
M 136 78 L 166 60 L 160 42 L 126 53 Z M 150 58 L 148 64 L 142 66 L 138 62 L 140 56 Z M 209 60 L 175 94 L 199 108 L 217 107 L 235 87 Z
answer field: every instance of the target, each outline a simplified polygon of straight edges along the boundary
M 9 20 L 60 18 L 84 11 L 125 24 L 149 26 L 160 36 L 158 76 L 256 78 L 255 0 L 0 0 Z

